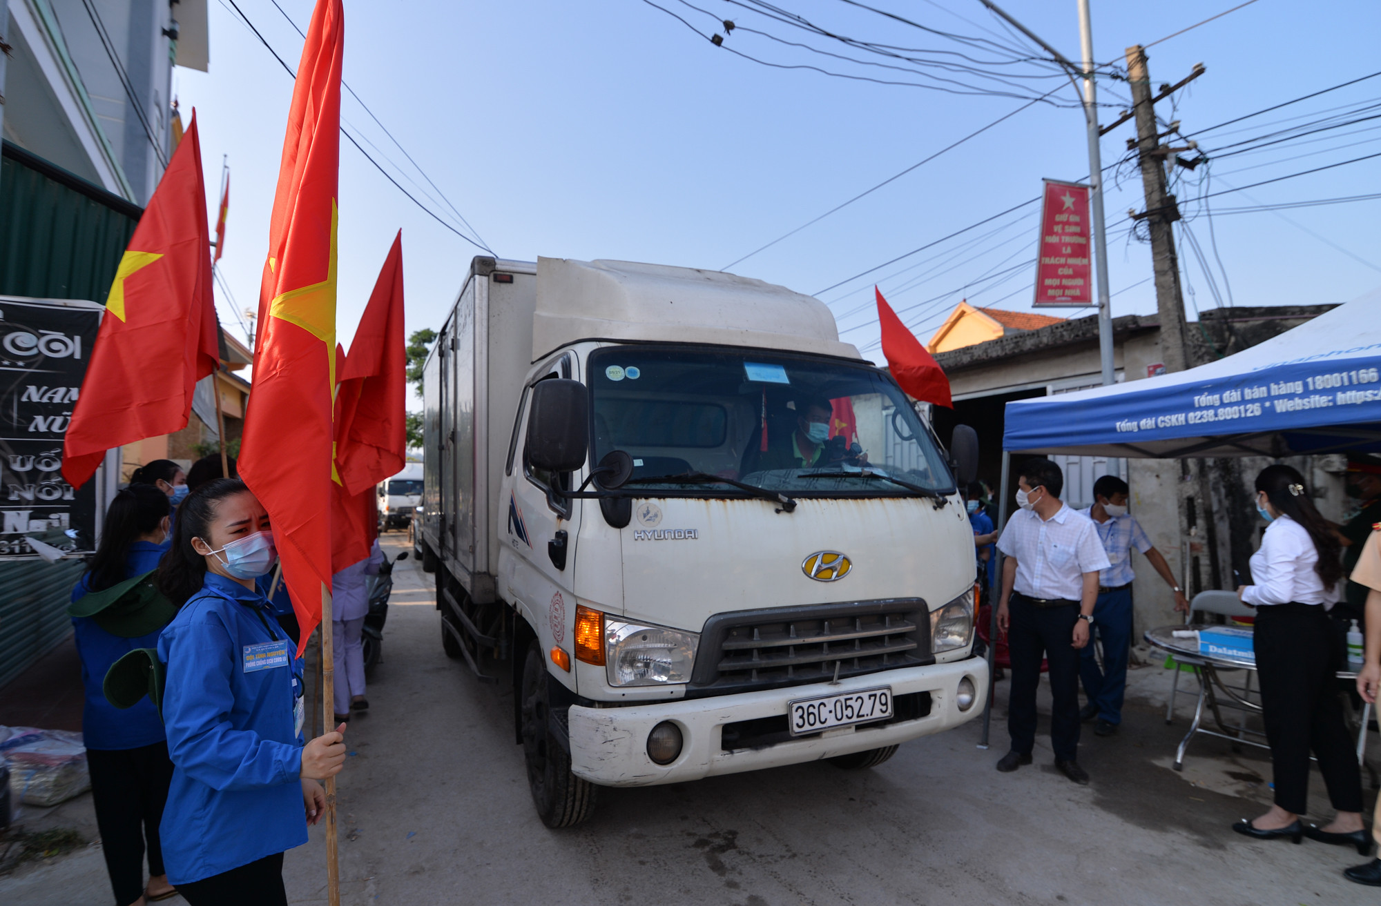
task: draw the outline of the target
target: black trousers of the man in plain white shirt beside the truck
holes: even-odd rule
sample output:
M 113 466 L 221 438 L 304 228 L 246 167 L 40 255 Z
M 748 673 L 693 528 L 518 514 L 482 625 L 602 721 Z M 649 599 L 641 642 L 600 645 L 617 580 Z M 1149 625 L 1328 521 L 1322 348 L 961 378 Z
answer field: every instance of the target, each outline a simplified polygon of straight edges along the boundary
M 1012 656 L 1012 686 L 1007 732 L 1012 751 L 1029 755 L 1036 744 L 1036 686 L 1040 662 L 1050 662 L 1050 742 L 1059 761 L 1079 754 L 1079 649 L 1072 645 L 1079 605 L 1037 608 L 1021 592 L 1008 602 L 1007 648 Z

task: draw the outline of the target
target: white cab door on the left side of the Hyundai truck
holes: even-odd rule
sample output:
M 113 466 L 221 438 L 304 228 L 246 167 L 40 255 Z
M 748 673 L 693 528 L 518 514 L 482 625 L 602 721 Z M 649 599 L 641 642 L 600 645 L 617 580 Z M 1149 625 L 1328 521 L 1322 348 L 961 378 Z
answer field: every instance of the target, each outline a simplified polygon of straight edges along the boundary
M 574 355 L 555 360 L 539 380 L 579 376 Z M 523 456 L 528 446 L 528 410 L 532 394 L 525 392 L 518 413 L 518 438 L 514 445 L 512 474 L 505 481 L 508 493 L 500 501 L 499 539 L 503 546 L 500 575 L 507 575 L 512 604 L 526 610 L 543 650 L 559 645 L 572 652 L 570 627 L 576 601 L 572 577 L 576 562 L 576 536 L 580 525 L 580 500 L 555 496 L 552 488 L 573 489 L 579 474 L 551 474 L 533 468 Z M 554 544 L 555 543 L 555 544 Z M 573 686 L 569 673 L 554 671 Z

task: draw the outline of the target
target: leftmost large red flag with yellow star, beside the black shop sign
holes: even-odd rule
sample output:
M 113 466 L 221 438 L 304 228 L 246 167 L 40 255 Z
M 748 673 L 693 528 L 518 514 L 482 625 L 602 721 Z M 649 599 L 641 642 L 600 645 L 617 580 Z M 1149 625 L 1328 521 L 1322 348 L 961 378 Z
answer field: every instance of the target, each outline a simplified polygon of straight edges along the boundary
M 196 110 L 120 258 L 62 442 L 73 488 L 105 452 L 186 427 L 196 381 L 215 372 L 215 302 Z

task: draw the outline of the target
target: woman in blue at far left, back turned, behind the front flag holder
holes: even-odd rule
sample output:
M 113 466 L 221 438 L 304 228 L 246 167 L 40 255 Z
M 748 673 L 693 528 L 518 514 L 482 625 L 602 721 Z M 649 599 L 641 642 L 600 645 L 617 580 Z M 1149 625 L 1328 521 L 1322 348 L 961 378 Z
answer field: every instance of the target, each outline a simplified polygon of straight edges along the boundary
M 155 569 L 167 551 L 170 510 L 167 494 L 149 485 L 131 485 L 117 493 L 105 514 L 101 546 L 72 590 L 72 601 Z M 105 700 L 102 691 L 110 664 L 137 648 L 157 645 L 163 628 L 127 638 L 90 616 L 75 617 L 72 627 L 86 691 L 81 736 L 91 771 L 91 798 L 115 902 L 142 906 L 146 900 L 167 899 L 177 891 L 163 871 L 159 845 L 159 819 L 173 776 L 163 721 L 153 702 L 144 699 L 120 711 Z M 145 841 L 148 887 L 144 884 Z

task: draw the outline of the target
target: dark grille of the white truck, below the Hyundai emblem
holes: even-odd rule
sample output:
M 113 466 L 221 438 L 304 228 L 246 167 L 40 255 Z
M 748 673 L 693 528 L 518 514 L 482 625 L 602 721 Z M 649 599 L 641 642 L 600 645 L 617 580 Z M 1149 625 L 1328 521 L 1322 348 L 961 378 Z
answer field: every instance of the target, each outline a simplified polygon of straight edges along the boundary
M 920 598 L 717 613 L 700 635 L 689 696 L 773 689 L 932 664 Z

